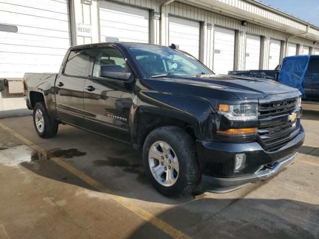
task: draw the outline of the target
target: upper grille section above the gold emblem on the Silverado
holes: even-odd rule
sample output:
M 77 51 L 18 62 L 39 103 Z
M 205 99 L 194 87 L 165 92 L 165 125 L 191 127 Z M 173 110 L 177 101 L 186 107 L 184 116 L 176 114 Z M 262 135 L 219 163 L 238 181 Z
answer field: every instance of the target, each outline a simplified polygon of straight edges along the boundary
M 259 119 L 290 114 L 296 109 L 297 98 L 259 105 Z

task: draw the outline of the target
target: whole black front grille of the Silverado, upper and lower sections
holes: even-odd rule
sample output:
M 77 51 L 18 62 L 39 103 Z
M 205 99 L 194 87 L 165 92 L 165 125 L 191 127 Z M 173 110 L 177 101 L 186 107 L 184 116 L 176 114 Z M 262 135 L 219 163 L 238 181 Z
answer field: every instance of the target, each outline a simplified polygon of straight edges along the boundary
M 298 121 L 288 120 L 288 116 L 295 111 L 296 106 L 297 98 L 263 103 L 258 106 L 258 118 L 261 125 L 258 128 L 258 135 L 264 148 L 278 148 L 298 133 L 300 128 Z

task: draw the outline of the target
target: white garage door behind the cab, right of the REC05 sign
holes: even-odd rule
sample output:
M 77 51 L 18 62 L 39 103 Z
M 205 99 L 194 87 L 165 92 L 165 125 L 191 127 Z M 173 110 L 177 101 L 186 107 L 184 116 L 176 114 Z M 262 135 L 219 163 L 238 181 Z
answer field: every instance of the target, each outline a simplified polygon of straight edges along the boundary
M 106 37 L 116 37 L 119 41 L 149 43 L 149 10 L 100 1 L 100 36 L 101 42 Z

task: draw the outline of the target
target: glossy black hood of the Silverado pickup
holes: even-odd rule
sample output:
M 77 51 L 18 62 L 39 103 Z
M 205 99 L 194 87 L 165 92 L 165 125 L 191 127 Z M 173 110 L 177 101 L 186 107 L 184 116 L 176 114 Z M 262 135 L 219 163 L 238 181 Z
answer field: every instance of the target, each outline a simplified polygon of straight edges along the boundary
M 157 84 L 159 81 L 161 84 Z M 166 82 L 167 85 L 162 84 L 163 82 Z M 217 90 L 224 91 L 224 93 L 231 93 L 233 97 L 227 94 L 228 97 L 238 99 L 259 99 L 265 98 L 267 95 L 298 91 L 298 89 L 272 80 L 226 75 L 168 75 L 163 78 L 153 78 L 149 83 L 151 83 L 151 86 L 155 87 L 156 90 L 163 92 L 167 92 L 168 89 L 168 92 L 171 93 L 186 93 L 186 95 L 199 94 L 199 96 L 205 97 L 204 93 L 208 93 L 208 89 L 211 89 L 214 92 Z M 159 89 L 162 87 L 163 89 Z M 187 91 L 189 91 L 188 94 Z

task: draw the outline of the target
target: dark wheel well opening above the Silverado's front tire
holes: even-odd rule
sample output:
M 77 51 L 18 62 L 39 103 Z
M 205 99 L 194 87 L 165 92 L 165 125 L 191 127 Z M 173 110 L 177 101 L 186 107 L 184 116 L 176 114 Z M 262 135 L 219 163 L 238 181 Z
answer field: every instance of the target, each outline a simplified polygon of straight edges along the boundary
M 143 113 L 139 119 L 137 142 L 143 148 L 144 141 L 149 133 L 162 126 L 177 126 L 184 129 L 194 140 L 196 139 L 193 127 L 186 121 L 152 113 Z

